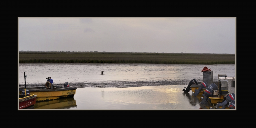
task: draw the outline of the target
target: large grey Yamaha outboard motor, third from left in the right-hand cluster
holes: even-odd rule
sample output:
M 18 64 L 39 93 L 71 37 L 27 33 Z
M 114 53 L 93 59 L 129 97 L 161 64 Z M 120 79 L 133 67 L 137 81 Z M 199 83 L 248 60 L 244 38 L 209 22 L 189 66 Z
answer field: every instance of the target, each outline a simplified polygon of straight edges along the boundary
M 206 87 L 206 90 L 204 91 L 204 94 L 202 96 L 204 99 L 201 97 L 203 100 L 201 103 L 202 104 L 207 104 L 209 97 L 213 96 L 214 90 L 218 90 L 218 86 L 215 83 L 210 84 L 208 87 Z

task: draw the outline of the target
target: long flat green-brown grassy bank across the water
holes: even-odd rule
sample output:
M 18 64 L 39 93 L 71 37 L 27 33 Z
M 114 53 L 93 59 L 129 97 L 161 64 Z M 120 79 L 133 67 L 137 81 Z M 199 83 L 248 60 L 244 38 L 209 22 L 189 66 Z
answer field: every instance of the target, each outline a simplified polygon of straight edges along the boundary
M 19 63 L 233 64 L 234 54 L 135 52 L 19 52 Z

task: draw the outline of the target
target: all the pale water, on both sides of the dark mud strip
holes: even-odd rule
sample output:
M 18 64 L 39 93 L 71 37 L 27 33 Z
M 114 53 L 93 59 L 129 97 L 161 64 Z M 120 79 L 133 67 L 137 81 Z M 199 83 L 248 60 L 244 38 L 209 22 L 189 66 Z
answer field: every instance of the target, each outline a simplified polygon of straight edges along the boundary
M 235 77 L 235 65 L 175 65 L 175 64 L 95 64 L 95 63 L 22 63 L 19 64 L 19 84 L 46 82 L 51 77 L 56 83 L 120 82 L 120 81 L 184 81 L 186 85 L 144 86 L 130 88 L 77 88 L 74 98 L 37 102 L 35 109 L 209 109 L 211 104 L 200 104 L 200 96 L 191 91 L 183 93 L 187 83 L 202 80 L 203 67 L 218 74 Z M 105 71 L 105 75 L 100 75 Z

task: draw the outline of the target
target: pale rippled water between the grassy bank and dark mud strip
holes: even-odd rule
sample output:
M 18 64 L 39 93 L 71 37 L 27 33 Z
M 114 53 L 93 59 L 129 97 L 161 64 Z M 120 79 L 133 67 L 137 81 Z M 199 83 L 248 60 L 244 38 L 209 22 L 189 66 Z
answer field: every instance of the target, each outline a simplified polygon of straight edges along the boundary
M 213 70 L 214 80 L 218 74 L 235 77 L 235 65 L 180 65 L 180 64 L 107 64 L 107 63 L 21 63 L 19 84 L 45 83 L 51 77 L 54 83 L 120 82 L 120 81 L 202 81 L 201 70 L 207 66 Z M 104 71 L 105 75 L 100 75 Z M 187 84 L 183 83 L 183 84 Z M 171 84 L 176 85 L 176 84 Z M 180 84 L 178 84 L 180 85 Z

